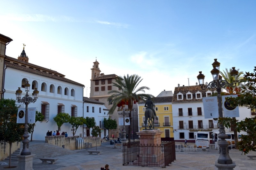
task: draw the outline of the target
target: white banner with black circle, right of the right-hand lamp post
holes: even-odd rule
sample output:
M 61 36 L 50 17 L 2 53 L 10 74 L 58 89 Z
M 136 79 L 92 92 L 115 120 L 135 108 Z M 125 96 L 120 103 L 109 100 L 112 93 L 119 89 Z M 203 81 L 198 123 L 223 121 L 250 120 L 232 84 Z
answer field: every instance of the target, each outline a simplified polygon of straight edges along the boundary
M 237 94 L 222 96 L 223 117 L 239 117 L 239 108 L 237 106 L 232 107 L 228 100 L 225 99 L 226 97 L 236 98 Z

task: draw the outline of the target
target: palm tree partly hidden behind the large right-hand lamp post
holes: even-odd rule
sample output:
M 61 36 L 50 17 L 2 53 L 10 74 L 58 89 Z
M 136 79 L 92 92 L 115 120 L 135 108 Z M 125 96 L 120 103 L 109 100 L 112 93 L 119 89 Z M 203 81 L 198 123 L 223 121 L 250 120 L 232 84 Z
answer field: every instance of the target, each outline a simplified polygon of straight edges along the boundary
M 226 87 L 227 90 L 227 95 L 231 95 L 231 94 L 240 94 L 241 91 L 241 87 L 243 86 L 243 82 L 244 79 L 242 77 L 243 71 L 239 71 L 239 69 L 237 69 L 238 71 L 238 75 L 237 77 L 234 77 L 230 74 L 231 72 L 231 68 L 228 69 L 226 68 L 226 71 L 223 70 L 223 72 L 220 71 L 221 76 L 224 78 L 224 80 L 226 80 L 229 84 L 235 84 L 236 86 L 233 87 Z M 232 121 L 230 122 L 230 127 L 234 129 L 234 140 L 235 140 L 235 148 L 238 148 L 238 137 L 237 137 L 237 130 L 236 130 L 236 117 L 232 117 Z

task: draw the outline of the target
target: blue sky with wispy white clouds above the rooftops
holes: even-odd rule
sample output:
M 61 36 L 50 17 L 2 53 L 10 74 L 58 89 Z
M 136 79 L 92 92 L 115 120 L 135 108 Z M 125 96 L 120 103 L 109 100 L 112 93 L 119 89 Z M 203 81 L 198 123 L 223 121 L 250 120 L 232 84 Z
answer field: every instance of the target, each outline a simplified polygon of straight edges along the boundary
M 12 38 L 6 55 L 25 46 L 29 63 L 85 86 L 93 62 L 101 73 L 137 74 L 157 96 L 178 84 L 212 81 L 220 71 L 256 66 L 255 0 L 0 0 L 0 33 Z

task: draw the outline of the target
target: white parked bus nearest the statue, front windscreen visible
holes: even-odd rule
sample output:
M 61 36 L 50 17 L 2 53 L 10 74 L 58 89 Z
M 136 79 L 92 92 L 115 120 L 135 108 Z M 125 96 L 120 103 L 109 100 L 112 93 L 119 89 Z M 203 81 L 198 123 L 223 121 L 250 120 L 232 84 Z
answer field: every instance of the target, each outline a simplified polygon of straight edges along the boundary
M 196 133 L 196 147 L 198 148 L 209 148 L 210 145 L 210 133 L 204 131 L 198 131 Z

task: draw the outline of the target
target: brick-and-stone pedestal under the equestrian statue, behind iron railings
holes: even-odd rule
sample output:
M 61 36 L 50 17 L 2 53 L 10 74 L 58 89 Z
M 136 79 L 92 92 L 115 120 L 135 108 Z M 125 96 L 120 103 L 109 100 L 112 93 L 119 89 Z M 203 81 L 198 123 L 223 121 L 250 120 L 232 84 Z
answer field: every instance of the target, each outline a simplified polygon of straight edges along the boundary
M 142 130 L 137 132 L 140 135 L 140 153 L 134 164 L 141 166 L 163 166 L 164 152 L 161 147 L 160 129 Z

